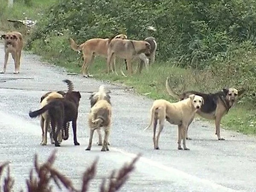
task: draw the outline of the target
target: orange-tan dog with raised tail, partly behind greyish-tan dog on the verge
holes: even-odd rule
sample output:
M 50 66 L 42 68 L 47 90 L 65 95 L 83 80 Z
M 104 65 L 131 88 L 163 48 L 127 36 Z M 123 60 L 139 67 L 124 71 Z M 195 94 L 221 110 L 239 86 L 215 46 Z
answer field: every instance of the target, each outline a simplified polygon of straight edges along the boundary
M 127 39 L 127 36 L 124 34 L 120 34 L 116 35 L 114 39 L 115 38 Z M 90 76 L 88 73 L 88 68 L 90 64 L 93 63 L 95 56 L 100 55 L 105 58 L 108 57 L 108 40 L 109 38 L 93 38 L 85 41 L 81 45 L 77 45 L 76 42 L 72 38 L 70 38 L 70 47 L 75 51 L 82 50 L 84 64 L 82 65 L 81 72 L 84 77 Z

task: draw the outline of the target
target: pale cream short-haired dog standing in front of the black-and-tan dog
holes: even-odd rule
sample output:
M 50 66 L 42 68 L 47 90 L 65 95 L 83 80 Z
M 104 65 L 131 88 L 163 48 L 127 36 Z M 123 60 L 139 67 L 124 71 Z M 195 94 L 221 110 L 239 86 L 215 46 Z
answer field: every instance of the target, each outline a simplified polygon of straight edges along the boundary
M 204 99 L 201 96 L 189 95 L 188 99 L 184 99 L 179 102 L 170 103 L 164 99 L 155 100 L 151 107 L 151 120 L 148 129 L 152 123 L 153 125 L 153 142 L 154 149 L 159 149 L 158 141 L 160 133 L 163 130 L 165 120 L 170 124 L 178 125 L 178 149 L 182 149 L 180 146 L 181 137 L 183 136 L 183 149 L 189 150 L 186 147 L 186 129 L 188 128 L 189 122 L 191 122 L 195 113 L 204 104 Z M 159 120 L 159 129 L 156 138 L 157 121 Z M 185 136 L 185 137 L 184 137 Z

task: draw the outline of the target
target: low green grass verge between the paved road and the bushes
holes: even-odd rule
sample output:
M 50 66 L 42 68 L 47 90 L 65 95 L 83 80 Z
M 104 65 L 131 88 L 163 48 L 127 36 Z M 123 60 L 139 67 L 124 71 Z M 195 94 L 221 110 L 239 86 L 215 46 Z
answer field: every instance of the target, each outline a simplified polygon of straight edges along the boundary
M 25 27 L 21 26 L 17 29 L 12 23 L 7 22 L 7 19 L 24 19 L 25 17 L 28 17 L 33 20 L 39 20 L 41 18 L 42 11 L 55 1 L 56 0 L 26 0 L 28 3 L 24 4 L 23 2 L 25 1 L 17 0 L 15 1 L 14 7 L 11 11 L 11 9 L 7 8 L 6 1 L 0 0 L 0 3 L 3 5 L 3 7 L 0 8 L 0 30 L 7 31 L 15 29 L 25 34 Z M 26 38 L 29 38 L 29 36 L 26 36 Z M 64 35 L 64 37 L 60 38 L 67 38 L 67 36 Z M 61 42 L 61 40 L 58 41 L 58 38 L 54 38 L 54 43 L 46 45 L 49 46 L 48 50 L 43 50 L 40 42 L 38 42 L 38 44 L 35 43 L 33 45 L 32 51 L 43 56 L 43 59 L 46 61 L 67 68 L 71 73 L 79 73 L 82 61 L 76 59 L 78 58 L 76 52 Z M 122 70 L 125 71 L 123 65 L 123 61 L 117 61 L 117 66 L 119 66 L 119 76 L 114 74 L 108 76 L 106 74 L 106 61 L 102 58 L 96 58 L 96 61 L 90 66 L 89 70 L 96 79 L 131 86 L 138 94 L 146 94 L 146 96 L 151 99 L 162 98 L 174 101 L 167 95 L 165 90 L 165 80 L 167 76 L 173 77 L 173 87 L 177 87 L 177 91 L 183 88 L 181 87 L 181 84 L 186 85 L 186 90 L 195 89 L 204 92 L 214 92 L 219 89 L 217 87 L 220 84 L 218 83 L 220 78 L 212 75 L 208 71 L 199 72 L 191 69 L 183 69 L 180 67 L 173 67 L 172 63 L 160 63 L 157 61 L 150 68 L 149 72 L 143 71 L 140 75 L 135 73 L 133 76 L 124 77 L 120 73 L 120 66 L 122 66 Z M 133 68 L 136 68 L 135 62 L 133 64 Z M 198 76 L 199 73 L 200 75 Z M 204 87 L 201 86 L 201 82 L 204 82 Z M 256 125 L 252 126 L 251 123 L 254 122 L 254 124 L 256 124 L 255 117 L 255 109 L 251 109 L 249 105 L 237 104 L 226 116 L 224 116 L 222 120 L 222 127 L 239 131 L 244 134 L 256 134 L 256 129 L 254 127 Z

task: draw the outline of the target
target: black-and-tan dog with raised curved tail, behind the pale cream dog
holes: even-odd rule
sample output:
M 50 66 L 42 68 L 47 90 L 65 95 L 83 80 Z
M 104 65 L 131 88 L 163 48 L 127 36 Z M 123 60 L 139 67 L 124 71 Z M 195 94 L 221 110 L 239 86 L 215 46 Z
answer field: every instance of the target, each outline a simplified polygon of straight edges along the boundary
M 238 91 L 235 88 L 224 88 L 217 93 L 207 94 L 199 93 L 197 91 L 186 91 L 179 95 L 175 93 L 174 90 L 172 90 L 172 88 L 169 86 L 169 78 L 166 79 L 166 90 L 170 96 L 179 100 L 186 99 L 191 94 L 196 94 L 203 97 L 204 105 L 200 110 L 197 111 L 197 113 L 205 119 L 212 119 L 215 121 L 215 134 L 217 135 L 218 140 L 224 140 L 224 138 L 220 135 L 221 118 L 228 113 L 230 108 L 238 99 L 238 96 L 240 96 L 245 91 L 244 89 Z M 189 139 L 187 137 L 187 133 L 186 139 Z

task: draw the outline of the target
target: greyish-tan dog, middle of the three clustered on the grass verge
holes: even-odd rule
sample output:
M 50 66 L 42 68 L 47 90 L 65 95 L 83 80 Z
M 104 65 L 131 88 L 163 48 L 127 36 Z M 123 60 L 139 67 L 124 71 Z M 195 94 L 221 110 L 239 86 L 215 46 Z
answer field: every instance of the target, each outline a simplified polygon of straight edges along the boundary
M 108 46 L 108 74 L 113 62 L 116 72 L 116 56 L 124 58 L 127 63 L 129 74 L 132 74 L 131 61 L 135 58 L 140 58 L 140 54 L 150 54 L 150 44 L 147 41 L 136 41 L 126 39 L 109 39 Z M 147 58 L 146 58 L 147 59 Z M 113 70 L 112 70 L 113 72 Z

